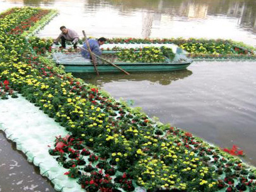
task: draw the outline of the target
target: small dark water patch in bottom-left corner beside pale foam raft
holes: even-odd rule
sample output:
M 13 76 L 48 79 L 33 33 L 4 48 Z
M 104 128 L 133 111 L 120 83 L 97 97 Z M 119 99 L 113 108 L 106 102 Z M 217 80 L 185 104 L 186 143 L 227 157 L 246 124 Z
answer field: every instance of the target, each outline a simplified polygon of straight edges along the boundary
M 0 191 L 54 192 L 49 180 L 43 178 L 39 172 L 0 131 Z

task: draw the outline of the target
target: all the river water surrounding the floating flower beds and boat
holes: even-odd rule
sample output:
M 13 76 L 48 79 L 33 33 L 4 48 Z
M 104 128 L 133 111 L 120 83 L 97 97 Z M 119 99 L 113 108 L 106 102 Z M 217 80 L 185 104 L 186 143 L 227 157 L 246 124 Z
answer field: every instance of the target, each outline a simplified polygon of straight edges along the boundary
M 80 37 L 85 30 L 88 37 L 228 38 L 256 46 L 253 0 L 0 0 L 0 11 L 14 6 L 59 10 L 39 37 L 57 37 L 59 26 L 65 25 Z M 220 147 L 238 145 L 247 155 L 245 161 L 256 166 L 255 64 L 193 62 L 187 70 L 177 72 L 74 75 L 114 98 L 133 101 L 133 106 L 142 107 L 163 123 Z M 22 186 L 31 186 L 30 176 L 33 186 L 26 191 L 54 191 L 12 145 L 0 132 L 0 191 L 21 191 L 17 178 L 27 177 Z M 6 169 L 16 162 L 19 169 Z

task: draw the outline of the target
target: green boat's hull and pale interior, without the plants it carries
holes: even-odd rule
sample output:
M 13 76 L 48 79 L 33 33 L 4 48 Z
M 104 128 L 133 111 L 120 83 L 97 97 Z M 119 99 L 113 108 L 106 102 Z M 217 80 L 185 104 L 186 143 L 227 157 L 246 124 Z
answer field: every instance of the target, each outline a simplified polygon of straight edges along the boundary
M 165 57 L 163 62 L 130 62 L 120 61 L 115 53 L 118 51 L 113 50 L 114 47 L 119 48 L 143 48 L 143 47 L 168 47 L 172 48 L 175 54 L 174 58 L 170 60 Z M 55 47 L 53 47 L 55 48 Z M 102 45 L 103 51 L 101 57 L 109 60 L 113 64 L 121 67 L 127 72 L 154 72 L 154 71 L 177 71 L 186 69 L 193 60 L 187 57 L 187 52 L 173 44 L 105 44 Z M 90 59 L 84 59 L 81 53 L 65 53 L 55 52 L 52 54 L 56 64 L 64 65 L 66 72 L 95 72 L 95 67 Z M 120 69 L 113 65 L 107 64 L 98 60 L 96 67 L 98 72 L 121 72 Z

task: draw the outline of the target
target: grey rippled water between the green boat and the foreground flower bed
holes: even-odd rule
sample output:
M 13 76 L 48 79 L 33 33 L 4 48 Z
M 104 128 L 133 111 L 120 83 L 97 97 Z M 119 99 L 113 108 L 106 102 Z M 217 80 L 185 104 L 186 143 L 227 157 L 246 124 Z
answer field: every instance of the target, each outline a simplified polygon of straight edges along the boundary
M 256 166 L 256 62 L 194 62 L 177 72 L 74 76 L 219 147 L 238 145 Z

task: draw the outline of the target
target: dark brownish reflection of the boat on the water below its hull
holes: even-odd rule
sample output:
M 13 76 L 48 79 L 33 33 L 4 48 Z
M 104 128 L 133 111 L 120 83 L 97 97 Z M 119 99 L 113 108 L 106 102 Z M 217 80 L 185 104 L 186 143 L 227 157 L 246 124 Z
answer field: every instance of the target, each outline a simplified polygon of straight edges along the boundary
M 184 79 L 192 75 L 192 71 L 184 69 L 181 71 L 171 71 L 171 72 L 137 72 L 132 73 L 130 76 L 125 76 L 124 74 L 100 74 L 100 76 L 95 76 L 95 74 L 86 73 L 73 73 L 75 77 L 84 79 L 85 82 L 90 81 L 91 84 L 96 86 L 102 86 L 107 82 L 118 82 L 118 81 L 150 81 L 156 84 L 161 84 L 166 86 L 172 81 L 177 81 L 179 79 Z

